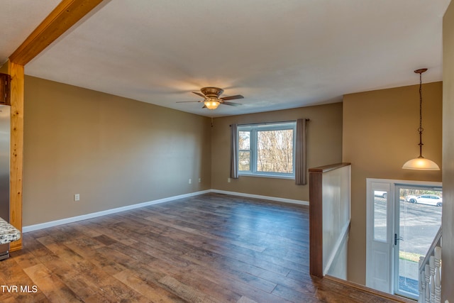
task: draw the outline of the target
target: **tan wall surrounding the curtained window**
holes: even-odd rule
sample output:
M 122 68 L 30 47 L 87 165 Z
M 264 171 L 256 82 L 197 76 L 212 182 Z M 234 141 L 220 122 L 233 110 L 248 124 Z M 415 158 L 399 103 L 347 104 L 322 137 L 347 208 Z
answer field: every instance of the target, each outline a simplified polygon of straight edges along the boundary
M 309 201 L 309 185 L 295 185 L 294 180 L 240 176 L 238 180 L 227 182 L 230 175 L 230 124 L 290 121 L 299 118 L 311 120 L 307 124 L 308 167 L 341 162 L 341 103 L 216 118 L 211 139 L 211 186 L 230 192 Z

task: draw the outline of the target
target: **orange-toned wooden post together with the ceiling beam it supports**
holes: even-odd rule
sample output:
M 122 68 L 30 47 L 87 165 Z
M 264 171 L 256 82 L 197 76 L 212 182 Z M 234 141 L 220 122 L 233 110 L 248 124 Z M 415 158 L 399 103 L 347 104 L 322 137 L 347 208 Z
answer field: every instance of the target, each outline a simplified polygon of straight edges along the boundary
M 103 0 L 62 0 L 43 22 L 9 56 L 11 75 L 10 223 L 22 231 L 23 104 L 25 65 L 74 26 Z M 109 0 L 104 0 L 109 1 Z M 22 240 L 11 243 L 20 250 Z

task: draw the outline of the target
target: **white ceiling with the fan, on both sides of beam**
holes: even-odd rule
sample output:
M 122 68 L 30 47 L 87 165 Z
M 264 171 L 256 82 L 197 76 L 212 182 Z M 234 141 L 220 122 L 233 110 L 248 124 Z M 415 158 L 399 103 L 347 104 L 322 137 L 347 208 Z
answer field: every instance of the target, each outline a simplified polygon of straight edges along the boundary
M 1 0 L 0 62 L 58 0 Z M 442 77 L 450 0 L 111 0 L 26 65 L 33 75 L 204 116 L 341 101 Z M 201 109 L 201 87 L 243 106 Z

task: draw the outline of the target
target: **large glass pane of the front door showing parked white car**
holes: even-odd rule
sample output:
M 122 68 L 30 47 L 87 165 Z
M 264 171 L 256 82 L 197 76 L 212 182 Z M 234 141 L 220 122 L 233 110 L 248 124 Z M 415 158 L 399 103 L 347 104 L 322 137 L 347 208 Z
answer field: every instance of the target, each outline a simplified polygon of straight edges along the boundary
M 441 226 L 441 189 L 399 188 L 397 294 L 419 297 L 419 257 L 426 256 Z

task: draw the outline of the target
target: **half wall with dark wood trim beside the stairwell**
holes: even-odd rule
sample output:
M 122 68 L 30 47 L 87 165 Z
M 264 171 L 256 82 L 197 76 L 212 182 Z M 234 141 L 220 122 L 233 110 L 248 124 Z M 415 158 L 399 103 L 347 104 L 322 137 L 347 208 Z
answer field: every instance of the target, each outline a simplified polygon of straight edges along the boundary
M 316 277 L 346 278 L 350 179 L 350 163 L 309 169 L 309 270 Z

